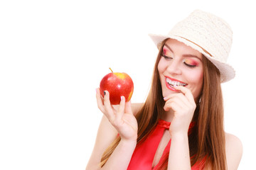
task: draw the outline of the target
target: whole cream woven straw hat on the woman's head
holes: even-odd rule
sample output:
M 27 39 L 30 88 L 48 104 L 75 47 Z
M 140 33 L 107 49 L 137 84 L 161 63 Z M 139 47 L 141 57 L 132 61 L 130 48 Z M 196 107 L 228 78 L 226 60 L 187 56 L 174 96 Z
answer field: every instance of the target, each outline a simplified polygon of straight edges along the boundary
M 166 38 L 173 38 L 198 50 L 220 70 L 222 82 L 235 77 L 235 70 L 227 63 L 233 32 L 218 16 L 196 10 L 177 23 L 168 35 L 149 36 L 157 47 Z

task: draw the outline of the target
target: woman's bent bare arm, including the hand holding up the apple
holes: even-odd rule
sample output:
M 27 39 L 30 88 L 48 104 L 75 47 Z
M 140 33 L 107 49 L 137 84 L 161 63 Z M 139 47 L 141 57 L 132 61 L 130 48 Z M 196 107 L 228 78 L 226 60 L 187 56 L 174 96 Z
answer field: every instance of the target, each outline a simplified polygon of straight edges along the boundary
M 105 91 L 102 99 L 97 89 L 97 104 L 104 113 L 100 128 L 97 132 L 95 147 L 86 169 L 127 169 L 137 144 L 137 120 L 133 113 L 137 113 L 138 104 L 125 103 L 124 98 L 117 109 L 110 105 L 109 93 Z M 119 133 L 121 140 L 114 149 L 105 165 L 100 167 L 100 159 L 105 149 L 114 141 Z

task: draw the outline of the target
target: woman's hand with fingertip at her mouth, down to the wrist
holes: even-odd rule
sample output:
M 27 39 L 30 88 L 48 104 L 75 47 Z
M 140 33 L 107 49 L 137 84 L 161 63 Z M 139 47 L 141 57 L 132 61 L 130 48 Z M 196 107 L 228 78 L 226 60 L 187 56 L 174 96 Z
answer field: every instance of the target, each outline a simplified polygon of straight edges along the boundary
M 191 91 L 184 86 L 174 86 L 180 91 L 164 98 L 166 101 L 164 111 L 174 111 L 174 118 L 171 121 L 169 131 L 171 135 L 188 134 L 188 128 L 196 109 L 196 103 Z

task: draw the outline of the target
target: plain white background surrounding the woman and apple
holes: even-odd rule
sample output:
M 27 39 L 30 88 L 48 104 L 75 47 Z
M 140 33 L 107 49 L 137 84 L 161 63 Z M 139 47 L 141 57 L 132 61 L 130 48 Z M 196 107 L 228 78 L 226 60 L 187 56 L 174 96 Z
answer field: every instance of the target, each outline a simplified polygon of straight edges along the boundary
M 0 169 L 85 169 L 102 113 L 95 89 L 109 73 L 134 80 L 133 102 L 149 89 L 166 34 L 199 8 L 233 28 L 223 84 L 225 130 L 242 140 L 239 169 L 255 169 L 254 1 L 1 1 Z

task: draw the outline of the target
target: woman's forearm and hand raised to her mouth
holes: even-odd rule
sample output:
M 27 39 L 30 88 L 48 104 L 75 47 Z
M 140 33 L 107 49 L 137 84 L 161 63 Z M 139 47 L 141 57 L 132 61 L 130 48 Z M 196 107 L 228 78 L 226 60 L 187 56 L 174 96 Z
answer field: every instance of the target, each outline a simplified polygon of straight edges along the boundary
M 174 86 L 178 94 L 171 94 L 164 98 L 164 110 L 174 115 L 170 125 L 171 147 L 169 152 L 168 169 L 191 169 L 188 128 L 196 109 L 193 94 L 183 86 Z

